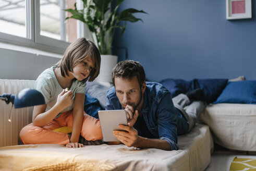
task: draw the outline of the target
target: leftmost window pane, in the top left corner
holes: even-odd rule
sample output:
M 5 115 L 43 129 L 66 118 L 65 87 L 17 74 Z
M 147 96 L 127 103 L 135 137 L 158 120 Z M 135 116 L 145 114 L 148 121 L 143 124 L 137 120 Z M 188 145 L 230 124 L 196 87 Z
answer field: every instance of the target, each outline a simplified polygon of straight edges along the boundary
M 26 38 L 26 0 L 0 0 L 0 32 Z

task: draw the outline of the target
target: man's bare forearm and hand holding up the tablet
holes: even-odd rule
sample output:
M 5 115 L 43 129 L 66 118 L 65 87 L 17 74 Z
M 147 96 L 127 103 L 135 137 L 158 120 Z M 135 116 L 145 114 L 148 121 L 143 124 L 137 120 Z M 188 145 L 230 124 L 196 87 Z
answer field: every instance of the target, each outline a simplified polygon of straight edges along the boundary
M 138 131 L 131 126 L 119 125 L 119 128 L 127 132 L 114 130 L 113 135 L 127 146 L 134 146 L 139 149 L 155 148 L 171 150 L 169 143 L 165 140 L 140 137 L 138 136 Z

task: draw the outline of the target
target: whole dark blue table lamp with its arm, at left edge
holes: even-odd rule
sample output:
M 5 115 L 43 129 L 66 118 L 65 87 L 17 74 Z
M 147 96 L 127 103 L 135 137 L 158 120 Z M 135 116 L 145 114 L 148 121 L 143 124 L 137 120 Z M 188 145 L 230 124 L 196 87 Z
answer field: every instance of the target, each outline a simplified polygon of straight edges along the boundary
M 23 89 L 17 95 L 13 94 L 2 94 L 0 99 L 5 101 L 6 104 L 10 102 L 14 105 L 14 108 L 29 107 L 35 105 L 45 104 L 44 96 L 42 93 L 35 89 Z M 13 107 L 11 107 L 13 109 Z M 11 117 L 11 111 L 9 115 L 9 121 Z

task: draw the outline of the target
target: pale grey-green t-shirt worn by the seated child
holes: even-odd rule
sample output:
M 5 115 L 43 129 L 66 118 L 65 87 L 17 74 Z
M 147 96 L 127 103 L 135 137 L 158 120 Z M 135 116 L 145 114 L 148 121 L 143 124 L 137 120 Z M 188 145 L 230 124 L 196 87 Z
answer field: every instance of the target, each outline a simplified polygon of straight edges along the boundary
M 38 79 L 36 79 L 34 84 L 34 88 L 40 91 L 44 96 L 45 104 L 47 104 L 46 111 L 48 111 L 50 108 L 52 108 L 55 105 L 55 103 L 57 102 L 57 97 L 59 93 L 62 92 L 63 89 L 65 89 L 59 85 L 55 77 L 53 69 L 56 67 L 57 66 L 55 65 L 55 66 L 52 66 L 51 68 L 44 70 L 39 75 Z M 71 90 L 74 94 L 73 103 L 68 107 L 66 107 L 65 109 L 63 109 L 61 113 L 70 111 L 71 109 L 74 108 L 74 99 L 75 99 L 76 93 L 85 93 L 86 92 L 85 87 L 86 87 L 86 83 L 82 83 L 79 80 L 72 82 L 69 90 Z

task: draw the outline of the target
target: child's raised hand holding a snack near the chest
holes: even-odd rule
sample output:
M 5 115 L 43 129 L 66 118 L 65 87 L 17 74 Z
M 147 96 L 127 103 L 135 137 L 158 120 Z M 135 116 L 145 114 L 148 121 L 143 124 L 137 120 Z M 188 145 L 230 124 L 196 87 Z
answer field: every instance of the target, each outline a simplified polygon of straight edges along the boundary
M 60 105 L 63 108 L 66 108 L 70 104 L 72 104 L 73 100 L 73 93 L 71 90 L 67 91 L 65 93 L 65 90 L 63 90 L 57 97 L 56 105 Z

